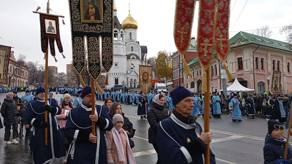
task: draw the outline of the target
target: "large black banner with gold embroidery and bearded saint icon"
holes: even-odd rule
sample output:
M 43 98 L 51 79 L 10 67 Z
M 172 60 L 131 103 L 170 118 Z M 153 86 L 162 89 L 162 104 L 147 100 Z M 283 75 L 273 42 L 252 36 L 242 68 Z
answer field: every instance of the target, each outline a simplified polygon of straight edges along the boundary
M 107 82 L 113 65 L 113 0 L 69 0 L 69 7 L 73 67 L 79 74 L 84 70 L 87 43 L 89 74 L 97 80 L 102 65 Z

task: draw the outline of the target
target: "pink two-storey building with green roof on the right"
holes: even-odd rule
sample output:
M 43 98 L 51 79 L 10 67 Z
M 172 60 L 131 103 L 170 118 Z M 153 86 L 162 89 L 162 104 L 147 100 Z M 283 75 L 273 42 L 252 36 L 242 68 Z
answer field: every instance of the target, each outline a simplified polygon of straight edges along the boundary
M 281 90 L 283 93 L 292 90 L 292 46 L 289 43 L 256 36 L 246 32 L 238 32 L 230 39 L 231 50 L 227 57 L 228 68 L 234 77 L 245 87 L 255 89 L 255 92 L 271 91 L 268 86 L 267 77 L 272 80 L 273 71 L 281 71 Z M 211 63 L 211 79 L 214 82 L 215 89 L 222 88 L 221 65 L 215 55 Z M 191 77 L 185 76 L 183 69 L 184 86 L 193 92 L 201 92 L 200 63 L 198 58 L 190 60 L 188 63 L 192 72 Z M 228 83 L 227 87 L 231 85 Z

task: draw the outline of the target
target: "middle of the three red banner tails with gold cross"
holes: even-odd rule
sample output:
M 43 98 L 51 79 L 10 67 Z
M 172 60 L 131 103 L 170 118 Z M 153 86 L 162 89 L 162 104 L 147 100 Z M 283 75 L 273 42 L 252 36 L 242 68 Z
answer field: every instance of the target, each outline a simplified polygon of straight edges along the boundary
M 204 70 L 210 66 L 214 58 L 214 38 L 216 29 L 214 0 L 200 1 L 199 19 L 198 19 L 198 36 L 197 51 L 201 67 Z

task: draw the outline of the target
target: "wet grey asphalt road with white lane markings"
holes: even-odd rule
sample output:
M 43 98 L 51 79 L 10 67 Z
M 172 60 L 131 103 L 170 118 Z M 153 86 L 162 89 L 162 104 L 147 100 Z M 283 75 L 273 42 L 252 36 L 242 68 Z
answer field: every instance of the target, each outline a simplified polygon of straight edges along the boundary
M 24 92 L 20 92 L 19 97 L 23 94 Z M 63 95 L 54 96 L 60 100 Z M 1 103 L 4 97 L 5 93 L 0 94 Z M 97 101 L 96 104 L 103 104 L 103 101 Z M 135 147 L 132 151 L 137 164 L 155 163 L 157 154 L 153 146 L 148 143 L 148 121 L 137 116 L 137 106 L 122 104 L 122 111 L 136 129 L 133 138 Z M 3 120 L 2 117 L 1 119 Z M 246 117 L 242 120 L 243 122 L 232 122 L 227 114 L 223 114 L 221 119 L 210 119 L 210 131 L 213 133 L 210 148 L 216 156 L 217 164 L 263 163 L 262 148 L 268 132 L 267 121 L 263 118 Z M 198 118 L 198 121 L 203 126 L 203 118 Z M 6 145 L 3 137 L 4 128 L 0 129 L 0 164 L 33 163 L 32 154 L 28 153 L 28 142 L 25 142 L 24 138 L 17 139 L 20 140 L 19 145 Z

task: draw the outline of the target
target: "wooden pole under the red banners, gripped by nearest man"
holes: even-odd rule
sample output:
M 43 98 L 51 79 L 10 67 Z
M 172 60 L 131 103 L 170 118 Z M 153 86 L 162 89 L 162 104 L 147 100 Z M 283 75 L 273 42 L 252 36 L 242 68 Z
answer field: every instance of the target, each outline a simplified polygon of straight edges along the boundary
M 207 92 L 205 92 L 204 97 L 204 132 L 209 132 L 209 120 L 210 120 L 210 67 L 207 71 Z M 204 81 L 203 81 L 204 83 Z M 205 164 L 210 164 L 210 145 L 207 144 L 207 151 L 205 153 Z

